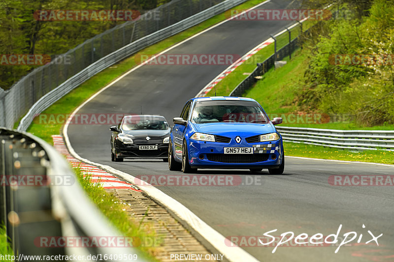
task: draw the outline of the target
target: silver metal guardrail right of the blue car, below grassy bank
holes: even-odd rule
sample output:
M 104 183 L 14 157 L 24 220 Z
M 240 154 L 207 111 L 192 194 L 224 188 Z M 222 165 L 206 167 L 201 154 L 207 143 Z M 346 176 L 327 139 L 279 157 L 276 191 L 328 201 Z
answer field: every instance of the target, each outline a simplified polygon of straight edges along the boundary
M 277 126 L 283 141 L 348 149 L 394 150 L 394 131 Z

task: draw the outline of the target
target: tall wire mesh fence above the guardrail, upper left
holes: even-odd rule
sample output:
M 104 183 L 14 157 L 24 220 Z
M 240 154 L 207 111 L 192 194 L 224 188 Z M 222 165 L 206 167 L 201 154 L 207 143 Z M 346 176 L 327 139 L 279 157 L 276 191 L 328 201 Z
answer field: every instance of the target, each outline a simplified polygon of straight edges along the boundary
M 12 127 L 45 94 L 116 50 L 219 3 L 243 1 L 172 0 L 145 12 L 137 20 L 125 22 L 96 35 L 65 54 L 57 56 L 50 63 L 34 69 L 9 90 L 4 91 L 0 88 L 0 126 Z M 218 8 L 214 13 L 223 11 L 222 8 Z M 146 45 L 149 44 L 152 44 L 152 41 L 146 42 Z

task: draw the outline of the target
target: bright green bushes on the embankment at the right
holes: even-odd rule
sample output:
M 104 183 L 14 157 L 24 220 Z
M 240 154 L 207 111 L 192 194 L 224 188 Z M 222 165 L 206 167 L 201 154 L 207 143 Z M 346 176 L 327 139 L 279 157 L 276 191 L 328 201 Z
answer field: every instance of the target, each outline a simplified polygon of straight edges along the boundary
M 310 62 L 298 90 L 302 110 L 352 114 L 367 126 L 394 123 L 393 63 L 335 64 L 335 54 L 394 54 L 393 3 L 375 0 L 369 16 L 330 20 L 314 29 L 304 45 Z

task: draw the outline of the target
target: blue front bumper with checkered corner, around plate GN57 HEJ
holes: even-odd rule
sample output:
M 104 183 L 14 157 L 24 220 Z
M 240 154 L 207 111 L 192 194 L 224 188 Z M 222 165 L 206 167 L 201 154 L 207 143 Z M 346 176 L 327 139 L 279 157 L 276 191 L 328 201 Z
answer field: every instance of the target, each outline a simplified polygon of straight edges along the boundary
M 189 139 L 189 162 L 193 168 L 278 168 L 282 163 L 282 139 L 261 143 L 204 142 Z M 253 147 L 253 154 L 225 154 L 225 147 Z

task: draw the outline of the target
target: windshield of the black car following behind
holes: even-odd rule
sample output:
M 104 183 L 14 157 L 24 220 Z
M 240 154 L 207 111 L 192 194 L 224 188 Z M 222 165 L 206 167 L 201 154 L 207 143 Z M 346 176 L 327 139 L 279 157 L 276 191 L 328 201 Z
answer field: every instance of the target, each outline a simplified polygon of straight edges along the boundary
M 125 116 L 122 122 L 122 129 L 129 130 L 165 130 L 168 129 L 168 123 L 164 117 L 158 116 Z

